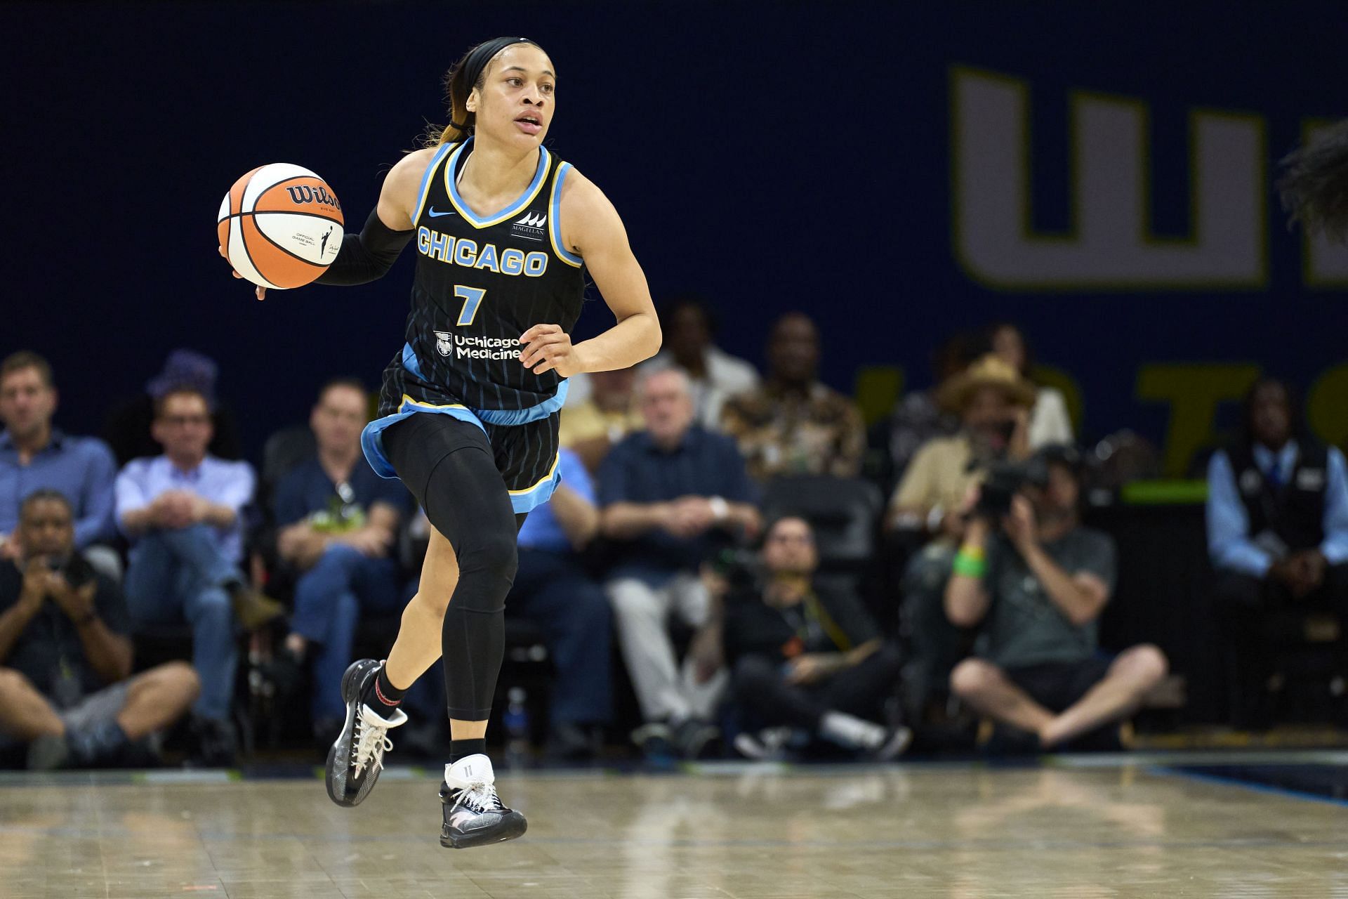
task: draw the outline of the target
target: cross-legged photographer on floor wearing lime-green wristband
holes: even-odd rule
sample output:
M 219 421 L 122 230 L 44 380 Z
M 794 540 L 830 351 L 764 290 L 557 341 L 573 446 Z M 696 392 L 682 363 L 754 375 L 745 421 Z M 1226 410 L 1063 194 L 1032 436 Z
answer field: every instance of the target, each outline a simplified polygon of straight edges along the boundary
M 1134 712 L 1166 675 L 1166 658 L 1150 644 L 1100 655 L 1113 540 L 1080 524 L 1076 452 L 1050 446 L 1035 461 L 1043 480 L 1012 496 L 1008 514 L 973 512 L 945 608 L 957 625 L 984 628 L 950 690 L 1049 749 Z

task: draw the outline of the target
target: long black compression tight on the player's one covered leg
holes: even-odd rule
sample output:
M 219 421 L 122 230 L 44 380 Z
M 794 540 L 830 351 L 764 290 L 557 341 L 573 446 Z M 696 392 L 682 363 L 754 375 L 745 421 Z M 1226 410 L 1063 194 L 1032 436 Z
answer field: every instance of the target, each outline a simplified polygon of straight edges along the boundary
M 506 594 L 523 516 L 511 508 L 491 445 L 473 425 L 412 415 L 384 433 L 384 447 L 458 557 L 458 586 L 441 627 L 449 717 L 485 721 L 506 655 Z

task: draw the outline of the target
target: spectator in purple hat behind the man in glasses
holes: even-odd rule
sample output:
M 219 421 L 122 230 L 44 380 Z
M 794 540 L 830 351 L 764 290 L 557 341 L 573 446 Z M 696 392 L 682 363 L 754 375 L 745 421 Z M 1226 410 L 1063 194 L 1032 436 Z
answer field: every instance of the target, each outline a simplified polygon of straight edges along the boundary
M 104 423 L 104 438 L 117 457 L 117 465 L 133 458 L 155 456 L 159 443 L 154 437 L 155 404 L 179 387 L 195 390 L 210 404 L 212 438 L 209 453 L 217 458 L 241 458 L 235 415 L 216 402 L 218 368 L 209 356 L 191 349 L 175 349 L 163 369 L 146 381 L 146 392 L 113 406 Z

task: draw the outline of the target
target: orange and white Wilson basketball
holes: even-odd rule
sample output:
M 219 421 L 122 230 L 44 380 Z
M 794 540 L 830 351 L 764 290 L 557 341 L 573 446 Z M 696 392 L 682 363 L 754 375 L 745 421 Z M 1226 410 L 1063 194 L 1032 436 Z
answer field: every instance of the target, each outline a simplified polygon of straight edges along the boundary
M 259 287 L 302 287 L 337 259 L 341 204 L 326 182 L 301 166 L 253 168 L 220 201 L 220 245 L 240 275 Z

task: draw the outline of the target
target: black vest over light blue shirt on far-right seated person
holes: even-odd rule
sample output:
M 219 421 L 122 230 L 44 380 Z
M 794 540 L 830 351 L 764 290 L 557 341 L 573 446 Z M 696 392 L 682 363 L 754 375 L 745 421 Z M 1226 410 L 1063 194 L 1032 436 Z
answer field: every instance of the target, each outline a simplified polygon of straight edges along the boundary
M 1273 531 L 1293 553 L 1325 539 L 1325 485 L 1329 452 L 1320 443 L 1297 441 L 1297 464 L 1287 481 L 1274 488 L 1244 443 L 1228 450 L 1240 501 L 1250 516 L 1250 534 Z

